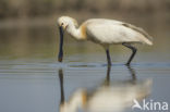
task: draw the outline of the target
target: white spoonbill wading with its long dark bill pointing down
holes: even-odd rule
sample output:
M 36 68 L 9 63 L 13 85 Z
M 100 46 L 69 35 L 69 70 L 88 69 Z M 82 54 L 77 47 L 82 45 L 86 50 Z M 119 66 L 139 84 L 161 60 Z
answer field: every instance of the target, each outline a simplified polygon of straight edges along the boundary
M 59 62 L 62 62 L 63 58 L 62 46 L 64 30 L 77 40 L 90 40 L 101 45 L 106 50 L 109 66 L 111 65 L 109 54 L 110 45 L 121 43 L 132 50 L 132 54 L 127 60 L 126 65 L 130 65 L 137 51 L 132 43 L 153 45 L 153 38 L 144 29 L 116 20 L 90 18 L 78 27 L 76 20 L 70 16 L 61 16 L 58 18 L 58 25 L 60 30 Z

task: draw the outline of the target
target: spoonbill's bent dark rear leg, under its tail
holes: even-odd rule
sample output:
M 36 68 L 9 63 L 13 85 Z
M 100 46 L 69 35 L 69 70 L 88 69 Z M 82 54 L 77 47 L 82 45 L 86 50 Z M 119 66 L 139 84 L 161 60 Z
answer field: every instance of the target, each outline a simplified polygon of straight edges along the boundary
M 134 58 L 134 55 L 135 55 L 137 49 L 136 49 L 135 47 L 132 47 L 132 46 L 129 45 L 129 43 L 125 43 L 125 42 L 123 42 L 122 45 L 123 45 L 124 47 L 127 47 L 127 48 L 130 48 L 130 49 L 132 50 L 132 54 L 131 54 L 129 61 L 126 62 L 126 65 L 130 65 L 130 63 L 131 63 L 132 59 Z

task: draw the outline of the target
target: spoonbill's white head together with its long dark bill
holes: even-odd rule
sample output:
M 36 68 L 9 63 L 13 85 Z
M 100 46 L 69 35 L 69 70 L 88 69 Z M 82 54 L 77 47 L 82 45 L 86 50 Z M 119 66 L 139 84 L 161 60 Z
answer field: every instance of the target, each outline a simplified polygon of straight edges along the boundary
M 64 30 L 70 25 L 77 26 L 77 22 L 74 18 L 70 17 L 70 16 L 61 16 L 61 17 L 58 18 L 58 25 L 59 25 L 59 32 L 60 32 L 60 47 L 59 47 L 58 61 L 62 62 L 62 57 L 63 57 L 62 46 L 63 46 L 63 34 L 64 34 Z

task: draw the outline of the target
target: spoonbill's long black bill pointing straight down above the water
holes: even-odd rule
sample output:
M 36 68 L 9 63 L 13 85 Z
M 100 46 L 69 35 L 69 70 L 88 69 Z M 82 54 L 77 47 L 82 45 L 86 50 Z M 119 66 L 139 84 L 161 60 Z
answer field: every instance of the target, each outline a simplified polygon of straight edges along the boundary
M 58 61 L 59 62 L 62 62 L 62 57 L 63 57 L 63 29 L 62 27 L 60 26 L 59 27 L 59 30 L 60 30 L 60 45 L 59 45 L 59 55 L 58 55 Z

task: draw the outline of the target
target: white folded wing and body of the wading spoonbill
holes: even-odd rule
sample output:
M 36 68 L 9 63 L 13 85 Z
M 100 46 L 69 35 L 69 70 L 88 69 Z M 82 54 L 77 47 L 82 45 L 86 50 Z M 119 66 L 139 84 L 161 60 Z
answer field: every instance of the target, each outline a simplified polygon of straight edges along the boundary
M 150 36 L 142 28 L 111 20 L 90 20 L 86 22 L 89 39 L 100 43 L 143 42 L 153 45 Z

